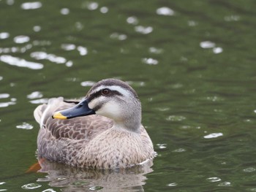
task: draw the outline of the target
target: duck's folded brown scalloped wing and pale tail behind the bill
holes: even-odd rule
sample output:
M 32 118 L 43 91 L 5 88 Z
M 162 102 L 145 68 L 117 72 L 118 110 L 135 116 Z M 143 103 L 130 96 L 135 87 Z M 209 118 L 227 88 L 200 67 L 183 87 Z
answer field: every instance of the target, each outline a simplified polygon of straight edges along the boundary
M 42 104 L 34 110 L 34 117 L 41 129 L 48 130 L 49 139 L 90 140 L 102 131 L 113 126 L 113 121 L 99 115 L 90 115 L 67 120 L 53 119 L 53 112 L 75 106 L 78 101 L 64 101 L 62 97 L 49 99 L 48 104 Z M 39 137 L 46 137 L 42 135 Z

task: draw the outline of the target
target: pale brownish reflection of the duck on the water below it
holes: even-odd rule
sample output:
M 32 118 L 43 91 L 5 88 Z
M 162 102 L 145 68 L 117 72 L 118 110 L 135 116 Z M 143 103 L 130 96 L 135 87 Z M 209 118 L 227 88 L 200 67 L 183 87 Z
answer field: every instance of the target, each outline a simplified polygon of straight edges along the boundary
M 39 172 L 48 175 L 38 178 L 37 183 L 48 182 L 61 191 L 144 191 L 146 174 L 153 172 L 153 162 L 127 169 L 79 169 L 49 161 L 40 162 Z

